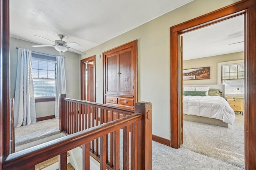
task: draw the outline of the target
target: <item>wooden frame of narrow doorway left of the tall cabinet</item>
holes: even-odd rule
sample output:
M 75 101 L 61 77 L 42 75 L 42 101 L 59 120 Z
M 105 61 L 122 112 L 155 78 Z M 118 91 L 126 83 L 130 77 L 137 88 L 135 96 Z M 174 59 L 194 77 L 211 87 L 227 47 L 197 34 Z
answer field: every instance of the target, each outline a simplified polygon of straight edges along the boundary
M 82 100 L 82 98 L 84 98 L 84 95 L 86 96 L 86 91 L 84 91 L 84 82 L 85 82 L 85 79 L 84 79 L 84 76 L 85 76 L 85 74 L 84 74 L 84 66 L 85 66 L 85 64 L 86 63 L 90 63 L 90 62 L 92 62 L 93 61 L 93 86 L 94 86 L 94 90 L 93 90 L 93 94 L 94 94 L 94 97 L 93 97 L 93 102 L 96 102 L 96 90 L 95 90 L 95 80 L 96 80 L 96 75 L 95 75 L 95 55 L 93 55 L 93 56 L 91 56 L 91 57 L 88 57 L 88 58 L 86 58 L 86 59 L 82 59 L 81 60 L 81 68 L 80 68 L 80 70 L 81 70 L 81 73 L 80 73 L 80 75 L 81 75 L 81 100 Z

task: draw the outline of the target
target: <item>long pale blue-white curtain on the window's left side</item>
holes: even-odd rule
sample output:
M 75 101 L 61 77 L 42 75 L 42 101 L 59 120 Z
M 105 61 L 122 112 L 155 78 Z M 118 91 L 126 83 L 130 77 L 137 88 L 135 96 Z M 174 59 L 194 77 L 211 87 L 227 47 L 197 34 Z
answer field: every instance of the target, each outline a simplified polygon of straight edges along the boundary
M 15 127 L 36 123 L 31 58 L 30 50 L 18 49 L 18 66 L 14 97 Z

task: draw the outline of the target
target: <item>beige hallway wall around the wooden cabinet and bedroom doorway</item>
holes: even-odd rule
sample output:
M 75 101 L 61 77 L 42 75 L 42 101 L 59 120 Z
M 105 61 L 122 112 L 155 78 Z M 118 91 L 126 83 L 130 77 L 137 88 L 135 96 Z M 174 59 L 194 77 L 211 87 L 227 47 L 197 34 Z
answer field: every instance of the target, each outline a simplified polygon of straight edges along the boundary
M 239 0 L 194 0 L 85 51 L 86 57 L 138 40 L 138 101 L 152 103 L 152 133 L 170 139 L 170 27 Z M 103 25 L 104 26 L 104 25 Z M 118 25 L 116 25 L 118 26 Z M 81 57 L 80 59 L 84 59 Z M 96 102 L 103 102 L 102 58 L 96 59 Z

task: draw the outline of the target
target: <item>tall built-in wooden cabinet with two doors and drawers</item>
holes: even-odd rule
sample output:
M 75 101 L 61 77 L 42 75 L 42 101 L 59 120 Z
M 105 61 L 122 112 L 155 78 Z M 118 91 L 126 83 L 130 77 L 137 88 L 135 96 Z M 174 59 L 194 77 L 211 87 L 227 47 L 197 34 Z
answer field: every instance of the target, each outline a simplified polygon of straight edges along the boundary
M 137 102 L 137 40 L 103 53 L 104 104 L 134 109 Z

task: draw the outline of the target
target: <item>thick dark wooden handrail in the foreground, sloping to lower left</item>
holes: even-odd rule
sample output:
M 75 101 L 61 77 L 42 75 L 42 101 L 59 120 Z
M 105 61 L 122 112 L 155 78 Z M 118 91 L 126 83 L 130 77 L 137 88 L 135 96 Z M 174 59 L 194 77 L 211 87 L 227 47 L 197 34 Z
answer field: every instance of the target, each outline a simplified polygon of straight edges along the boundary
M 9 154 L 3 162 L 3 169 L 26 169 L 49 158 L 84 145 L 96 138 L 107 135 L 143 118 L 142 113 L 134 113 L 127 117 L 80 131 L 53 141 L 37 145 L 25 150 Z

